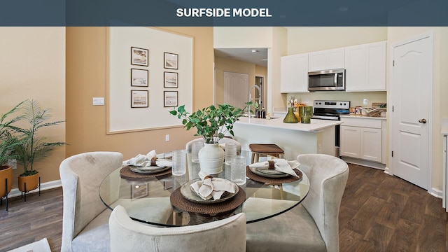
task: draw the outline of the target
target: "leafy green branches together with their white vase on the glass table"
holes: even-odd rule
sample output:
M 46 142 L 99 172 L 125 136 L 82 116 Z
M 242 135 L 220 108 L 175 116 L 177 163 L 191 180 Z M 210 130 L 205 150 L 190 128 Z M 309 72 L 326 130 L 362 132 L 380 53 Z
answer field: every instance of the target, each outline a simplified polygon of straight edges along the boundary
M 247 102 L 244 109 L 235 108 L 229 104 L 210 105 L 193 113 L 186 111 L 185 105 L 182 105 L 177 110 L 169 112 L 182 119 L 186 130 L 196 128 L 195 136 L 201 136 L 204 139 L 204 148 L 201 148 L 198 154 L 202 171 L 208 174 L 222 172 L 224 151 L 219 148 L 218 141 L 227 133 L 234 135 L 233 124 L 243 116 L 251 104 L 252 102 Z

